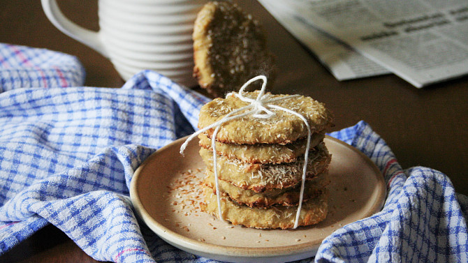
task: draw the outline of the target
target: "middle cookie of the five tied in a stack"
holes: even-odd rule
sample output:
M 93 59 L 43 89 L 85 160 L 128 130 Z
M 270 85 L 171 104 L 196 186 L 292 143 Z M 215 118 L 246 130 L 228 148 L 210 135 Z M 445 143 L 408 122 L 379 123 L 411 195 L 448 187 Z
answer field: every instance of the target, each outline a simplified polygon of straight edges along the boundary
M 207 170 L 213 171 L 212 151 L 200 149 L 200 156 L 207 166 Z M 325 144 L 316 146 L 309 152 L 307 164 L 307 179 L 312 179 L 317 174 L 327 170 L 331 156 Z M 219 179 L 228 181 L 233 185 L 263 193 L 273 188 L 288 188 L 295 186 L 302 179 L 304 159 L 298 158 L 293 163 L 281 164 L 251 164 L 242 163 L 240 160 L 231 160 L 224 156 L 217 158 L 217 172 Z

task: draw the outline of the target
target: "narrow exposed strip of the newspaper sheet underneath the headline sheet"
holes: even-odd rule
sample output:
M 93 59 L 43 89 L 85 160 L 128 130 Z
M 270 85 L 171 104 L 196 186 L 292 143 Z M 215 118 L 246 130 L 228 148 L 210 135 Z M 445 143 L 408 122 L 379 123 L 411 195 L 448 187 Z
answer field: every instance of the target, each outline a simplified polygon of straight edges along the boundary
M 337 80 L 353 80 L 390 73 L 383 66 L 316 29 L 305 17 L 295 12 L 287 1 L 258 1 L 302 45 L 309 48 Z

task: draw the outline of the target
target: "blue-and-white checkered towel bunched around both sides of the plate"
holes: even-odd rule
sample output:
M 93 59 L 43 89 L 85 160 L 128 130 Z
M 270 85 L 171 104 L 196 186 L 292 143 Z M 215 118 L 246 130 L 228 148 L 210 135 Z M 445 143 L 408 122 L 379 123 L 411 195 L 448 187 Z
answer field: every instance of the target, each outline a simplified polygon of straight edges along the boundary
M 152 71 L 122 89 L 12 87 L 0 93 L 0 255 L 52 223 L 96 260 L 211 261 L 139 225 L 128 198 L 133 171 L 192 133 L 207 98 Z M 402 170 L 363 121 L 331 135 L 376 163 L 388 199 L 380 213 L 337 230 L 304 262 L 467 262 L 468 199 L 446 175 Z

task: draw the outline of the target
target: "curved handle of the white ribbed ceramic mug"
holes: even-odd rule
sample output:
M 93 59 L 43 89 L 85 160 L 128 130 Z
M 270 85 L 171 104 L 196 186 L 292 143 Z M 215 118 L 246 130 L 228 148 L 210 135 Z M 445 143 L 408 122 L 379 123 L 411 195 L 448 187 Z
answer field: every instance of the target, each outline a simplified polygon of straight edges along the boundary
M 45 15 L 50 22 L 57 27 L 57 29 L 65 33 L 67 36 L 91 47 L 101 53 L 104 57 L 108 57 L 108 53 L 105 51 L 98 32 L 80 27 L 78 24 L 75 24 L 65 17 L 65 15 L 61 13 L 56 0 L 41 0 L 41 3 Z

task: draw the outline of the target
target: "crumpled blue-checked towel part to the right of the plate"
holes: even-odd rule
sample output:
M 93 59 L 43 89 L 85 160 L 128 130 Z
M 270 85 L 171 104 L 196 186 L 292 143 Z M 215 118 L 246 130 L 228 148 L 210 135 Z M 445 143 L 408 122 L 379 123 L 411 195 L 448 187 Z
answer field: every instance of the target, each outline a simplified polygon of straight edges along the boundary
M 445 174 L 402 170 L 364 121 L 330 135 L 369 156 L 385 177 L 388 197 L 381 212 L 328 236 L 316 262 L 468 262 L 468 198 L 455 193 Z

